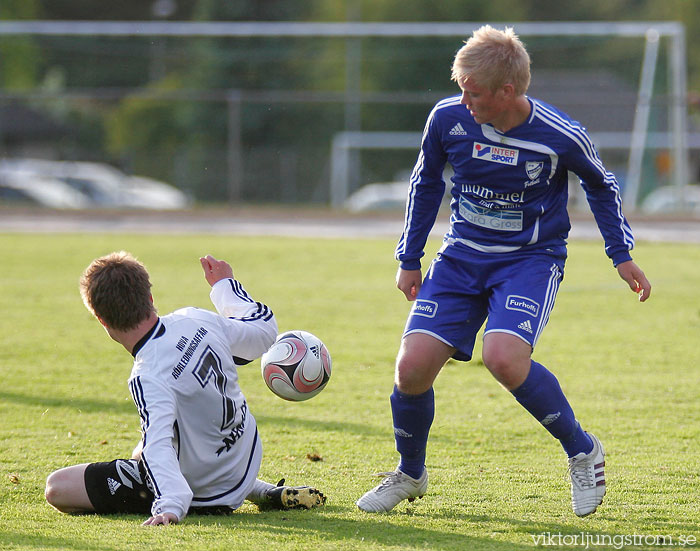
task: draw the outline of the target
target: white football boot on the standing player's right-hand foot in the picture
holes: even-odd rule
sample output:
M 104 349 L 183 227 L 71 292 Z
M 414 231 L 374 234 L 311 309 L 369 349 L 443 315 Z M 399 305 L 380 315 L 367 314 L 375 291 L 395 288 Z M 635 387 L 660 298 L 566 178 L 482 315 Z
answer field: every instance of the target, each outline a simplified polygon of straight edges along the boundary
M 605 450 L 595 436 L 590 453 L 579 453 L 569 458 L 571 476 L 571 505 L 580 517 L 594 513 L 605 495 Z

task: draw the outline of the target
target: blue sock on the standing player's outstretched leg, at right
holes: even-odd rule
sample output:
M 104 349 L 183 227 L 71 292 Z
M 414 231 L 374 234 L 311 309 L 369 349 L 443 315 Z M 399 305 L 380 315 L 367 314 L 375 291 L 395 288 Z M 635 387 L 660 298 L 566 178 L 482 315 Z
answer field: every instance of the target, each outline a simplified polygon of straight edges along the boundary
M 561 442 L 569 457 L 593 449 L 593 441 L 576 421 L 574 412 L 559 386 L 559 381 L 546 367 L 535 361 L 525 382 L 512 391 L 515 399 Z

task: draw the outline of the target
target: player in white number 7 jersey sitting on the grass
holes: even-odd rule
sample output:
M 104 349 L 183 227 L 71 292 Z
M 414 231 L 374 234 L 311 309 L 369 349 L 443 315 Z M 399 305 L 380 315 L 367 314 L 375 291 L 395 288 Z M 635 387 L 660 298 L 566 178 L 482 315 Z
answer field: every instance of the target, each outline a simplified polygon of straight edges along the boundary
M 83 273 L 85 306 L 134 356 L 129 390 L 142 440 L 130 460 L 52 473 L 46 499 L 59 511 L 150 512 L 144 524 L 157 525 L 179 522 L 188 511 L 230 512 L 245 499 L 281 509 L 325 502 L 315 488 L 256 478 L 262 443 L 237 366 L 270 347 L 277 322 L 228 263 L 211 256 L 200 262 L 219 314 L 182 308 L 159 317 L 148 272 L 125 252 L 98 258 Z

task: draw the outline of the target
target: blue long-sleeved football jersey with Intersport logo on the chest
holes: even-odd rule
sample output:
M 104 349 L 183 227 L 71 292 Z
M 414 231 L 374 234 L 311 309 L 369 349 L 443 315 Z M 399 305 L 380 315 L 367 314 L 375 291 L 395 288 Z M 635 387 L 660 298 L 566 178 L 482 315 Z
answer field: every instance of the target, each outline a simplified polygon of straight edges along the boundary
M 460 99 L 438 102 L 428 116 L 396 248 L 402 268 L 420 268 L 445 192 L 446 163 L 454 169 L 446 253 L 548 250 L 565 255 L 571 171 L 581 179 L 607 255 L 615 265 L 630 260 L 634 238 L 622 214 L 619 185 L 581 124 L 528 98 L 528 119 L 499 132 L 476 123 Z

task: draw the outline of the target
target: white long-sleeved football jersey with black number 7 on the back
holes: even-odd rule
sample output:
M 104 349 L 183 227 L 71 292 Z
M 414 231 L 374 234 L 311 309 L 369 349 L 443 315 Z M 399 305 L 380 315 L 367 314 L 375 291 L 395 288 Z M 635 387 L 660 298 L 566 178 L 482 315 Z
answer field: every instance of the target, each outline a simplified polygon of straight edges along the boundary
M 217 282 L 210 297 L 218 314 L 182 308 L 163 316 L 133 352 L 129 390 L 141 416 L 153 515 L 237 508 L 260 469 L 262 444 L 236 366 L 272 345 L 277 322 L 234 279 Z

